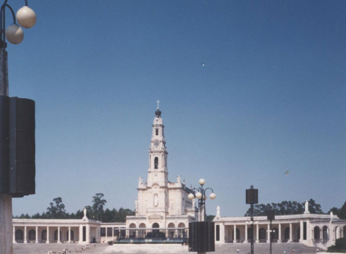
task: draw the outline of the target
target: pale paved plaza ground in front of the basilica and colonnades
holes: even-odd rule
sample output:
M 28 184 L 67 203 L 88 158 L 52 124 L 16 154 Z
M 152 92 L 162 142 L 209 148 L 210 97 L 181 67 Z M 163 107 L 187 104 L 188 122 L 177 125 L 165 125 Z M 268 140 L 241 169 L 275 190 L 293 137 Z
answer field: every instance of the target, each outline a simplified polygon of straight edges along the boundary
M 177 245 L 177 244 L 166 244 L 166 245 L 136 245 L 136 244 L 117 244 L 108 245 L 107 243 L 98 243 L 96 247 L 90 244 L 91 248 L 83 251 L 83 254 L 125 254 L 125 253 L 157 253 L 157 254 L 187 254 L 188 246 Z M 71 250 L 71 253 L 76 253 L 76 248 L 81 248 L 81 244 L 13 244 L 13 254 L 47 254 L 48 251 L 59 250 L 62 253 L 64 248 Z M 299 243 L 273 243 L 272 253 L 273 254 L 292 254 L 292 249 L 294 248 L 294 254 L 313 254 L 316 253 L 317 247 L 305 246 Z M 250 244 L 244 243 L 226 243 L 222 245 L 215 246 L 215 254 L 236 254 L 237 249 L 239 254 L 249 254 Z M 194 253 L 194 252 L 191 252 Z M 268 254 L 269 244 L 257 243 L 254 245 L 254 254 Z M 321 248 L 319 248 L 319 253 L 322 254 Z M 197 254 L 197 253 L 195 253 Z M 328 253 L 330 254 L 330 253 Z

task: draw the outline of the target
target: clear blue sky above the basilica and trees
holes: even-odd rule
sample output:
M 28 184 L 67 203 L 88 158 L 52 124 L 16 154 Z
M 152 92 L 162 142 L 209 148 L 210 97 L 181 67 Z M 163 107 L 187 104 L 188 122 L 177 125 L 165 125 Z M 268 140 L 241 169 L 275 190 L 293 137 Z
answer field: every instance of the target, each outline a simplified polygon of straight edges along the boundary
M 134 209 L 157 99 L 169 179 L 206 179 L 208 214 L 243 216 L 251 184 L 260 203 L 345 202 L 345 1 L 29 6 L 37 24 L 7 51 L 10 96 L 36 101 L 36 194 L 13 215 L 56 197 L 75 212 L 99 192 Z

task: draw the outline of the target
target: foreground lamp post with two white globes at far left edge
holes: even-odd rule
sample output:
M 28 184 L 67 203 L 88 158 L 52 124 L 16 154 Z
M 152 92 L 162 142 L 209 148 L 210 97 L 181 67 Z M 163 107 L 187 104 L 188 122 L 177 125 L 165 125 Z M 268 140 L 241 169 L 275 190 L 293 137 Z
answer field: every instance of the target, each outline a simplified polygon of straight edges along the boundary
M 28 2 L 25 0 L 25 6 L 20 8 L 16 15 L 13 12 L 12 7 L 7 3 L 8 0 L 5 0 L 0 8 L 0 96 L 8 97 L 8 65 L 7 65 L 7 43 L 19 44 L 24 38 L 24 32 L 21 25 L 24 28 L 31 28 L 36 23 L 35 12 L 28 7 Z M 5 13 L 6 9 L 10 10 L 13 18 L 13 24 L 5 29 Z M 17 25 L 16 18 L 19 23 Z M 6 115 L 6 108 L 0 108 L 0 115 Z M 5 124 L 6 125 L 6 124 Z M 8 135 L 6 132 L 8 129 L 4 126 L 4 123 L 1 123 L 0 133 L 1 135 Z M 9 147 L 8 144 L 3 144 L 1 141 L 1 159 L 8 160 Z M 6 158 L 7 157 L 7 158 Z M 1 161 L 0 171 L 1 176 L 8 177 L 9 166 L 6 165 L 7 162 Z M 8 178 L 5 180 L 0 180 L 1 182 L 1 192 L 0 192 L 0 254 L 12 254 L 13 245 L 12 245 L 12 196 L 16 196 L 15 193 L 10 193 L 8 187 Z M 19 196 L 17 196 L 19 197 Z M 37 240 L 37 239 L 36 239 Z

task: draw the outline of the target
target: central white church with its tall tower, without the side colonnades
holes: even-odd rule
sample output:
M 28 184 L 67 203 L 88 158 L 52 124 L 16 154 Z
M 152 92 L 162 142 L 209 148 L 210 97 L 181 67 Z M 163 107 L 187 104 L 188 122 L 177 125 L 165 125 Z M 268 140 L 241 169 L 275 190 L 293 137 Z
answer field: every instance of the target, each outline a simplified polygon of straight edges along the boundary
M 167 149 L 161 111 L 157 108 L 149 147 L 148 180 L 138 180 L 136 215 L 127 216 L 127 228 L 185 228 L 197 218 L 191 189 L 181 182 L 168 180 Z

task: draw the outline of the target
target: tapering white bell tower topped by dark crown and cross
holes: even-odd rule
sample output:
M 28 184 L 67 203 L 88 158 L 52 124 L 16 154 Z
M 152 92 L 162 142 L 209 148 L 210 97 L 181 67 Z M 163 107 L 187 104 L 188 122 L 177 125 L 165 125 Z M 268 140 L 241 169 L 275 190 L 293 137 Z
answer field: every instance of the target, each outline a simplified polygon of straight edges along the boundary
M 164 125 L 161 118 L 161 111 L 158 107 L 155 111 L 155 118 L 153 122 L 153 132 L 149 147 L 149 169 L 148 169 L 148 186 L 153 183 L 158 183 L 160 186 L 167 186 L 168 172 L 167 172 L 167 151 L 166 141 L 164 136 Z

